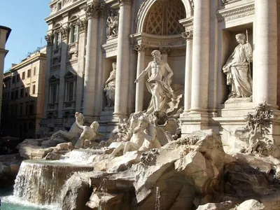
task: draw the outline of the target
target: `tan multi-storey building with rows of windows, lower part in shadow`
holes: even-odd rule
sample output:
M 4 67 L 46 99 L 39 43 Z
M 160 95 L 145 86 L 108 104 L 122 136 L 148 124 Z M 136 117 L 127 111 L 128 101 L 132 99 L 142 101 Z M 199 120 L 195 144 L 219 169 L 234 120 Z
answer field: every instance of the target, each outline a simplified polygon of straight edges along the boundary
M 35 137 L 43 118 L 45 48 L 36 50 L 3 76 L 1 128 L 6 135 Z

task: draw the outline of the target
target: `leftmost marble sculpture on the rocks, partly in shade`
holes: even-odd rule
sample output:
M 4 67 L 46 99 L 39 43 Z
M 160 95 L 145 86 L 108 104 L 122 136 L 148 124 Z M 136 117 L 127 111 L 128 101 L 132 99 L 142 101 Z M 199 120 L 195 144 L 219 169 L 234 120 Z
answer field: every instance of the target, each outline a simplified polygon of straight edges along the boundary
M 76 121 L 75 121 L 75 123 L 73 123 L 73 125 L 71 125 L 69 132 L 64 131 L 64 130 L 59 130 L 59 131 L 55 132 L 54 134 L 52 134 L 52 136 L 50 137 L 50 141 L 53 141 L 53 139 L 55 139 L 55 137 L 61 137 L 65 141 L 75 141 L 76 142 L 76 138 L 78 139 L 78 137 L 80 137 L 80 134 L 83 132 L 83 130 L 80 129 L 80 126 L 83 125 L 83 123 L 85 121 L 85 117 L 83 116 L 82 113 L 76 112 L 75 118 L 76 118 Z

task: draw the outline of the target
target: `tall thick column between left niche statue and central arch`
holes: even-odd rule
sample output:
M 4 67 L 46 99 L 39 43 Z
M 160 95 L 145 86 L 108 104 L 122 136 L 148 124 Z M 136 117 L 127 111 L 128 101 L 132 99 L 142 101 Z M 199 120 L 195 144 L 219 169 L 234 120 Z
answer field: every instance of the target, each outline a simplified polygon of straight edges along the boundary
M 119 0 L 118 52 L 114 117 L 127 116 L 127 95 L 130 66 L 130 15 L 131 0 Z

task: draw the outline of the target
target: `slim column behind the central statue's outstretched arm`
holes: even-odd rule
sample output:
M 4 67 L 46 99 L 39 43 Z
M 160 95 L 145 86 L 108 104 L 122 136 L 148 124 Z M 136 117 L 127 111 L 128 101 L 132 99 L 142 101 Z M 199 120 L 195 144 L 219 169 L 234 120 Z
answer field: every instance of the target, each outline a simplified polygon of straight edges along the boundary
M 134 50 L 138 52 L 137 59 L 137 78 L 142 71 L 145 69 L 145 50 L 146 47 L 144 45 L 135 45 Z M 143 111 L 144 104 L 144 85 L 145 81 L 140 80 L 136 83 L 136 99 L 135 99 L 135 112 Z

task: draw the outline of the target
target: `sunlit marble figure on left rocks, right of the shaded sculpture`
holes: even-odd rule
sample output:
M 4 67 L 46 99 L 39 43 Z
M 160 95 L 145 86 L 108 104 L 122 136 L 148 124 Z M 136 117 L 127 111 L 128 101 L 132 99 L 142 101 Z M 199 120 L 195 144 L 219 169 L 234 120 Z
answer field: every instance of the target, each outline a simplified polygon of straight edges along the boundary
M 97 137 L 99 123 L 94 121 L 90 126 L 78 125 L 78 127 L 80 127 L 83 132 L 80 134 L 80 138 L 75 146 L 78 148 L 84 148 L 85 141 L 93 141 Z

